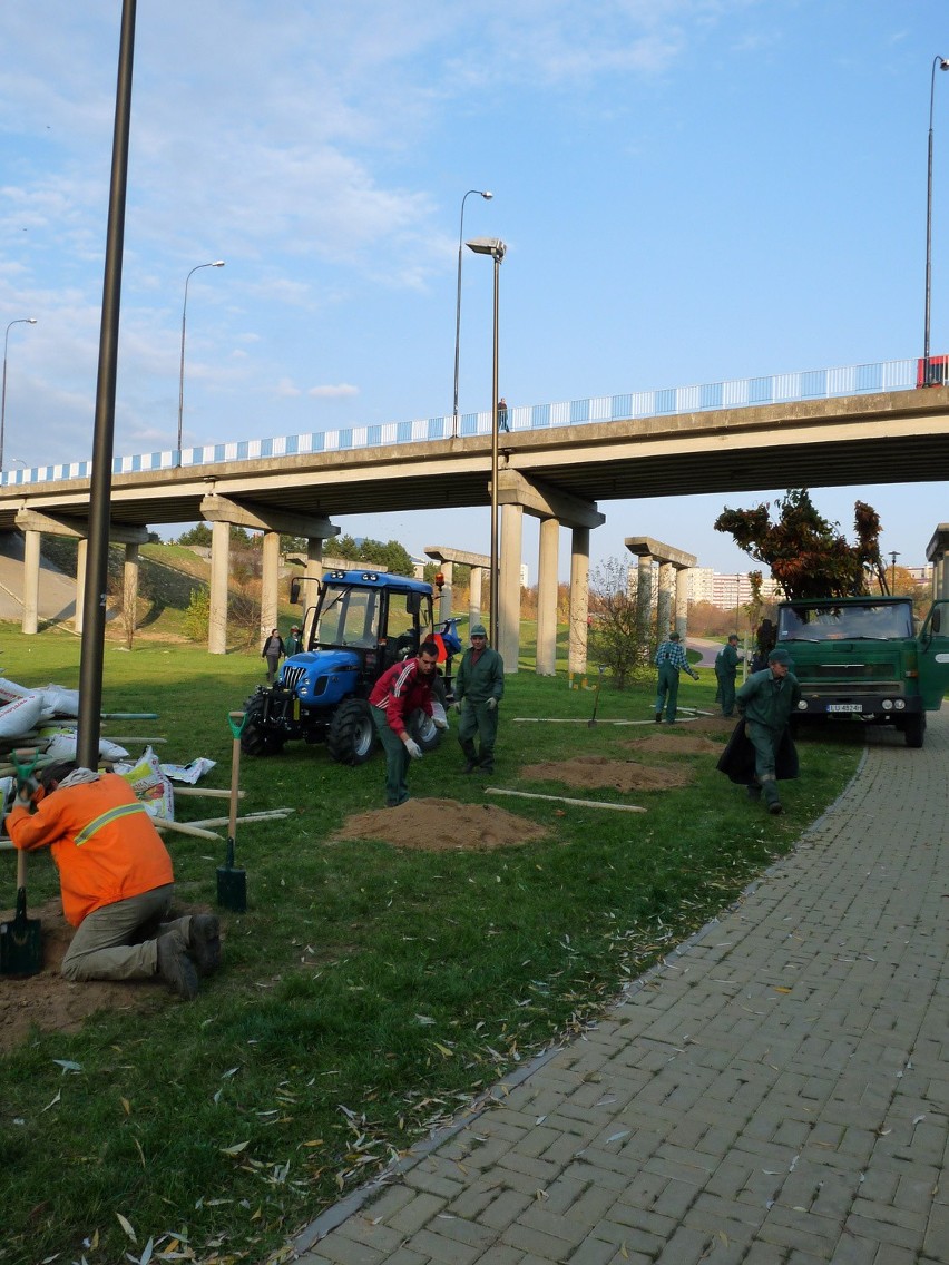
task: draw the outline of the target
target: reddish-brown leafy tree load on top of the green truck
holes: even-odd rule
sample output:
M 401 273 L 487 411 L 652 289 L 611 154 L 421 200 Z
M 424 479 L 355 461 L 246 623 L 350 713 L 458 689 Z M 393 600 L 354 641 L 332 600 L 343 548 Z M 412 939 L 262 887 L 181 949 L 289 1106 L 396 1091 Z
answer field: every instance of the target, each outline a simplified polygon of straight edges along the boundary
M 771 568 L 790 600 L 815 597 L 859 597 L 876 584 L 888 587 L 879 553 L 879 516 L 857 501 L 854 531 L 849 544 L 840 525 L 829 522 L 815 509 L 807 488 L 792 488 L 774 502 L 778 519 L 771 521 L 769 505 L 754 510 L 725 509 L 715 530 L 731 535 L 739 549 Z

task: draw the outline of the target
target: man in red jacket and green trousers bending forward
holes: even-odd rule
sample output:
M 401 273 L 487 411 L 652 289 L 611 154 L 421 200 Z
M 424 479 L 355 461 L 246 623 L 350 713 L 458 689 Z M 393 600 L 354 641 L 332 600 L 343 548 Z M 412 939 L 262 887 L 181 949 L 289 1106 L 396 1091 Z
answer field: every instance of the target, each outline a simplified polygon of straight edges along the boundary
M 423 641 L 418 658 L 394 663 L 382 673 L 369 694 L 372 720 L 386 751 L 386 807 L 397 808 L 409 798 L 409 762 L 423 751 L 407 729 L 409 717 L 421 710 L 433 716 L 431 683 L 438 665 L 438 646 Z M 440 716 L 438 729 L 448 729 Z

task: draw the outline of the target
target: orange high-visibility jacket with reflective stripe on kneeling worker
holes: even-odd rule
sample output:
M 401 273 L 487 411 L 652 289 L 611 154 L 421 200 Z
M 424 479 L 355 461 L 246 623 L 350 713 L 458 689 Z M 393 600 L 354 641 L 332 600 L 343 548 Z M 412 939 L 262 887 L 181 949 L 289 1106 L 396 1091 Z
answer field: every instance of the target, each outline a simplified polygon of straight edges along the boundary
M 171 856 L 146 807 L 118 773 L 59 787 L 35 813 L 16 805 L 6 817 L 16 848 L 49 848 L 59 870 L 63 913 L 73 927 L 115 904 L 173 880 Z

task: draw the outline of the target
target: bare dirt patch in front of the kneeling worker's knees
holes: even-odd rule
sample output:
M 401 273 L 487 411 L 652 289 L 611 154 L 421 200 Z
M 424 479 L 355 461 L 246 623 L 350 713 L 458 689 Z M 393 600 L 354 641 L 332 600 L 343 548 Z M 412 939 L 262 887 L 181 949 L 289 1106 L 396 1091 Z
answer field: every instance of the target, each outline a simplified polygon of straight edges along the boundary
M 0 975 L 0 1050 L 13 1050 L 34 1025 L 43 1032 L 76 1032 L 96 1011 L 140 1012 L 166 998 L 171 1001 L 161 980 L 70 983 L 59 974 L 59 964 L 72 940 L 72 927 L 62 916 L 59 901 L 30 906 L 27 916 L 42 923 L 43 969 L 27 979 Z M 4 915 L 11 917 L 13 911 Z

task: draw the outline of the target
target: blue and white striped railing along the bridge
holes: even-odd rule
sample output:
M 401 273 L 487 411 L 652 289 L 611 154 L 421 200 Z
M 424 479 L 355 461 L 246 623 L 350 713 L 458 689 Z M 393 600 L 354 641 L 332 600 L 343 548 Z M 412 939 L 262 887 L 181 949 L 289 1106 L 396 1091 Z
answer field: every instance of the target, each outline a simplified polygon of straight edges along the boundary
M 658 391 L 631 391 L 626 395 L 591 396 L 588 400 L 567 400 L 559 404 L 515 405 L 507 409 L 507 425 L 512 431 L 543 430 L 630 417 L 747 409 L 754 405 L 788 404 L 795 400 L 825 400 L 877 391 L 909 391 L 924 385 L 946 383 L 949 383 L 949 355 L 934 355 L 930 358 L 927 373 L 924 372 L 924 362 L 914 358 L 852 364 L 835 369 L 802 369 L 796 373 L 773 373 L 757 378 L 733 378 L 728 382 L 664 387 Z M 493 411 L 486 409 L 482 412 L 466 412 L 461 415 L 458 423 L 462 438 L 491 434 Z M 449 439 L 452 428 L 453 417 L 449 415 L 378 425 L 340 426 L 337 430 L 314 430 L 271 439 L 239 439 L 226 444 L 185 448 L 180 454 L 175 449 L 164 449 L 159 453 L 116 457 L 113 460 L 113 473 L 129 474 L 139 471 L 210 466 L 219 462 L 257 460 L 266 457 L 418 444 Z M 91 471 L 91 460 L 3 471 L 0 487 L 89 478 Z

